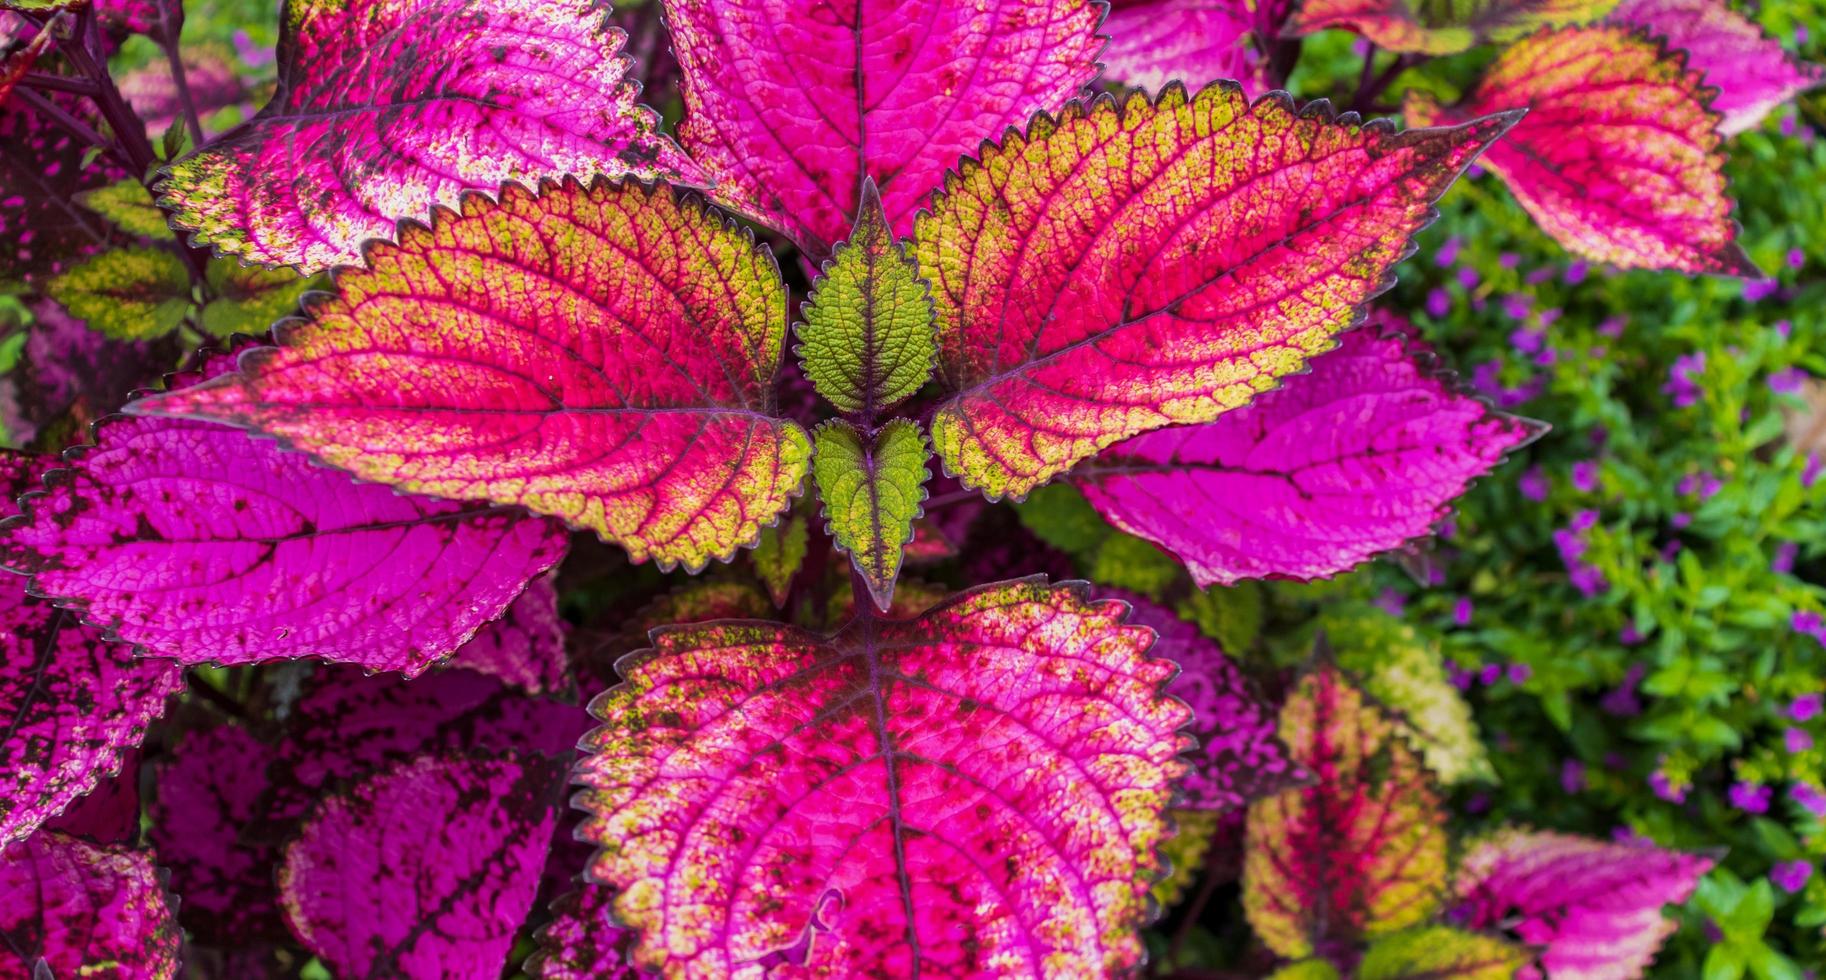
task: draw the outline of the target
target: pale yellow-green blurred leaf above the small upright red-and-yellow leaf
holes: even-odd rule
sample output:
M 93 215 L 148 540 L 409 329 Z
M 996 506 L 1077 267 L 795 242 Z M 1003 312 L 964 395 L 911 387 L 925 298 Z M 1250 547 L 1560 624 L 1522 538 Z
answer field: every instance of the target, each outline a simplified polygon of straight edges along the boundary
M 1320 628 L 1338 666 L 1413 728 L 1421 757 L 1441 781 L 1495 779 L 1470 704 L 1446 677 L 1437 642 L 1375 606 L 1329 610 Z

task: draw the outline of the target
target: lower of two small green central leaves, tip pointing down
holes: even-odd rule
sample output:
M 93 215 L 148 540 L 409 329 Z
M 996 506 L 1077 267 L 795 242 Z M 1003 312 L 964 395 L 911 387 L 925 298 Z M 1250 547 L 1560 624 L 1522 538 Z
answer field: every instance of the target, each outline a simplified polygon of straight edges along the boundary
M 926 434 L 897 418 L 873 443 L 847 422 L 827 422 L 813 438 L 811 473 L 831 537 L 869 584 L 875 606 L 887 611 L 900 577 L 900 549 L 913 540 L 913 520 L 931 476 Z

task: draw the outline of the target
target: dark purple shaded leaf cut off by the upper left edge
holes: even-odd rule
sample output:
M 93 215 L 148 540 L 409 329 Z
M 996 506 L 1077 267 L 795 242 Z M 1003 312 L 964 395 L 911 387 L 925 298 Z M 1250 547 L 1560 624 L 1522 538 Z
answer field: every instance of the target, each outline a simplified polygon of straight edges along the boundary
M 88 100 L 46 93 L 60 111 L 100 124 Z M 108 246 L 113 237 L 100 215 L 75 204 L 86 190 L 128 177 L 111 153 L 89 159 L 71 137 L 20 97 L 0 104 L 0 279 L 60 272 L 71 259 Z

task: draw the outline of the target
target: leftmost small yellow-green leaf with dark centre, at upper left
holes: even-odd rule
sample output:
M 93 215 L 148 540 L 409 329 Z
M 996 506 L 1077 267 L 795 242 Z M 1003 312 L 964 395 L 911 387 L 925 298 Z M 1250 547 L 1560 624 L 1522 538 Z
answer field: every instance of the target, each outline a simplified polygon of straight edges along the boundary
M 170 334 L 190 312 L 184 263 L 157 248 L 121 248 L 51 279 L 46 287 L 71 316 L 115 339 Z

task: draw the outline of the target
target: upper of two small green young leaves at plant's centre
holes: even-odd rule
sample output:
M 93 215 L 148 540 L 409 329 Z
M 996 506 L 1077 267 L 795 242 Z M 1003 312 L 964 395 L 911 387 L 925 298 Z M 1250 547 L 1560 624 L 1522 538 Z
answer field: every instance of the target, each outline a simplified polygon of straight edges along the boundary
M 891 409 L 931 376 L 931 296 L 887 228 L 875 181 L 862 188 L 849 241 L 824 263 L 798 336 L 805 376 L 845 412 Z

